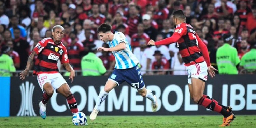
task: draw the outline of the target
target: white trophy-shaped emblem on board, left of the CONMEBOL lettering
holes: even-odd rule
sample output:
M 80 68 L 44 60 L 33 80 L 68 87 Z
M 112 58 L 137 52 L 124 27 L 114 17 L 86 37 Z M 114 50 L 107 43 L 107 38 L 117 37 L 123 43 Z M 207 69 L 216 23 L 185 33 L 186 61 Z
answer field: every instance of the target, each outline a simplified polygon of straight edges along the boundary
M 33 83 L 28 81 L 19 86 L 22 100 L 17 116 L 37 116 L 32 103 L 34 88 Z

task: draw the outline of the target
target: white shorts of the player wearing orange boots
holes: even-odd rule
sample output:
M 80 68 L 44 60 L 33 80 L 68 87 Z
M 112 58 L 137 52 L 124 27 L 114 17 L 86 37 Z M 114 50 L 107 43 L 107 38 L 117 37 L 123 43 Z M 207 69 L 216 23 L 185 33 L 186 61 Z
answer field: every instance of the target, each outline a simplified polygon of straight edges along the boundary
M 206 62 L 196 63 L 194 65 L 187 66 L 187 72 L 188 72 L 188 80 L 187 82 L 189 84 L 192 84 L 191 78 L 197 78 L 201 79 L 202 81 L 207 80 L 207 64 Z

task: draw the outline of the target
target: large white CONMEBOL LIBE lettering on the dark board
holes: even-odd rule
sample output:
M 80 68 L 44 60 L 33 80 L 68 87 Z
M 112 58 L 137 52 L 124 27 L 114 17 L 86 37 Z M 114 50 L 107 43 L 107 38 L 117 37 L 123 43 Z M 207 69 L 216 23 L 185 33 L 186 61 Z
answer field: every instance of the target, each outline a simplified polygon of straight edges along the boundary
M 247 86 L 246 89 L 245 86 Z M 256 103 L 253 102 L 256 100 L 256 94 L 254 93 L 254 91 L 256 91 L 256 84 L 248 84 L 245 86 L 241 84 L 224 84 L 222 85 L 222 93 L 220 93 L 214 92 L 214 86 L 208 84 L 205 86 L 205 94 L 212 97 L 212 94 L 220 93 L 220 96 L 215 95 L 215 97 L 222 98 L 222 104 L 225 106 L 229 104 L 235 111 L 240 111 L 243 109 L 256 110 Z M 77 103 L 79 110 L 87 109 L 88 112 L 93 110 L 95 105 L 94 103 L 98 99 L 98 93 L 96 91 L 98 88 L 102 90 L 104 86 L 97 87 L 91 85 L 85 89 L 80 85 L 75 85 L 70 88 L 71 92 L 79 93 L 80 98 L 82 99 Z M 110 91 L 106 98 L 106 102 L 101 104 L 99 111 L 112 112 L 118 110 L 122 112 L 152 112 L 151 101 L 140 96 L 136 89 L 127 85 L 123 85 L 118 88 L 120 88 L 118 89 L 119 93 L 116 93 L 115 89 Z M 198 111 L 198 105 L 192 103 L 193 101 L 190 99 L 188 85 L 185 85 L 184 89 L 175 84 L 167 85 L 165 87 L 148 85 L 147 89 L 152 90 L 157 97 L 157 111 L 160 109 L 161 111 L 163 109 L 165 112 Z M 176 94 L 176 97 L 170 99 L 172 98 L 169 96 L 171 93 Z M 52 108 L 56 112 L 65 112 L 69 109 L 69 105 L 68 103 L 58 104 L 57 95 L 59 94 L 54 93 L 51 98 Z M 145 104 L 142 104 L 141 102 L 144 100 Z

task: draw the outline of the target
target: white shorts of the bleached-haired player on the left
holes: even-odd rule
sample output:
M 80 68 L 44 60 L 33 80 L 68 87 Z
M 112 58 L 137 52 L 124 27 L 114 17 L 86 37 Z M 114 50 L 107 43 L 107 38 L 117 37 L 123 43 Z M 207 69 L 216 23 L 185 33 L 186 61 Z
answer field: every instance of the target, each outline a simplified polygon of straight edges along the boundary
M 45 83 L 49 82 L 51 83 L 53 89 L 56 91 L 62 84 L 67 83 L 66 80 L 62 77 L 60 73 L 53 73 L 53 74 L 38 74 L 37 75 L 37 81 L 44 93 L 43 86 Z

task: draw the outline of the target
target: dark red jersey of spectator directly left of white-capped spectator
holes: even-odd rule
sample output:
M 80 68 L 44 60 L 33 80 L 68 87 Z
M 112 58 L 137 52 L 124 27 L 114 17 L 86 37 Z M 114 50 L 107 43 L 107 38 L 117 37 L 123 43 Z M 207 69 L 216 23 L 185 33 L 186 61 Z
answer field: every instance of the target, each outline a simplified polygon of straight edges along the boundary
M 129 17 L 127 20 L 127 25 L 129 26 L 129 35 L 130 37 L 137 33 L 137 26 L 142 21 L 140 14 L 135 17 Z

